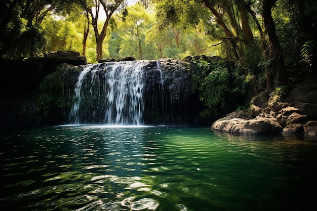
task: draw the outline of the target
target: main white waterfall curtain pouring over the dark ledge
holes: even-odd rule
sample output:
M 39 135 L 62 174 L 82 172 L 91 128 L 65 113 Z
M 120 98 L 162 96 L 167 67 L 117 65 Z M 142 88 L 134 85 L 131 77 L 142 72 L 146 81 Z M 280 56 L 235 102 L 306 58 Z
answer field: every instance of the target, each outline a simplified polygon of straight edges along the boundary
M 142 124 L 144 62 L 86 65 L 75 86 L 69 122 Z

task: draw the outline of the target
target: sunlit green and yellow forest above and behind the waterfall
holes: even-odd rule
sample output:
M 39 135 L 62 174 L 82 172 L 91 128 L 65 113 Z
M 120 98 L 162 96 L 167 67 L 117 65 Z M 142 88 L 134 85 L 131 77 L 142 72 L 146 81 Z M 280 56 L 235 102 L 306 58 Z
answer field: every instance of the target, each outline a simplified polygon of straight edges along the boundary
M 247 108 L 264 90 L 283 93 L 314 79 L 316 25 L 315 0 L 4 0 L 0 56 L 75 51 L 89 63 L 186 57 L 200 70 L 193 92 L 225 113 L 232 110 L 226 99 L 246 96 L 240 108 Z M 230 65 L 206 59 L 219 57 Z

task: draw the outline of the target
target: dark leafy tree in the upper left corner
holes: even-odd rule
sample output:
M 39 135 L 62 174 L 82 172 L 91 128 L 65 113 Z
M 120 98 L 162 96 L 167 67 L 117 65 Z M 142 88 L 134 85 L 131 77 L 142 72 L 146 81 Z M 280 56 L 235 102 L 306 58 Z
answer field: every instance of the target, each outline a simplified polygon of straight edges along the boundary
M 35 56 L 46 41 L 44 18 L 71 7 L 72 0 L 4 0 L 0 5 L 0 56 Z

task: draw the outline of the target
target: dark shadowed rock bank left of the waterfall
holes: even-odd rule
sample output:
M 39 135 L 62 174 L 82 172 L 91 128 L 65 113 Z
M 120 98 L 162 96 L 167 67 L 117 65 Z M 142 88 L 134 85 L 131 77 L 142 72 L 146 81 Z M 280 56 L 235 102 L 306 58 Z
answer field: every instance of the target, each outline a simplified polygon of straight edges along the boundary
M 78 52 L 50 52 L 39 58 L 0 59 L 0 125 L 39 124 L 38 88 L 56 67 L 87 64 Z

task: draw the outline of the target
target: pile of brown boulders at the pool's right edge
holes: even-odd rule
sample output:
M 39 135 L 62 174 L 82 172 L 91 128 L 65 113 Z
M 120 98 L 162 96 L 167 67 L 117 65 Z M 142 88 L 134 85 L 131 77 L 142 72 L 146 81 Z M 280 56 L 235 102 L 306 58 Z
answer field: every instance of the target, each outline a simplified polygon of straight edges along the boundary
M 317 81 L 290 91 L 287 96 L 263 92 L 251 100 L 247 112 L 234 111 L 215 121 L 212 129 L 234 135 L 317 135 Z

